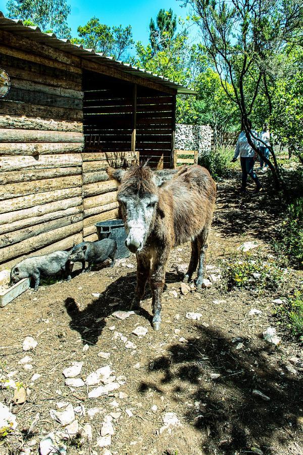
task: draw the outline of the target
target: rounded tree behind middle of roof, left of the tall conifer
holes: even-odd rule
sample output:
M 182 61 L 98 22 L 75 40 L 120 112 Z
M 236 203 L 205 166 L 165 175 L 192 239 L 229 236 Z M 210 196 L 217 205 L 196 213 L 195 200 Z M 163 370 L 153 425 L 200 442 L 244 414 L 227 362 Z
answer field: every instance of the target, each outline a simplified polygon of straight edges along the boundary
M 134 44 L 130 25 L 125 28 L 122 25 L 110 27 L 101 24 L 96 17 L 91 18 L 87 24 L 80 25 L 77 31 L 80 38 L 73 38 L 73 43 L 82 44 L 95 52 L 104 52 L 118 60 L 127 58 L 126 52 Z

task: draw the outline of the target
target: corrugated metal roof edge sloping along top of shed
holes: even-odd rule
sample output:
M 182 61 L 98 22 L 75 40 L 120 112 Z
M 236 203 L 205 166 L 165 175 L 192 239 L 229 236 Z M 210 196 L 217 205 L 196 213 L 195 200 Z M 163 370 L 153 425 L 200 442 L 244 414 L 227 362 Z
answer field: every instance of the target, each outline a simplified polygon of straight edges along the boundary
M 93 49 L 85 49 L 82 44 L 72 44 L 69 39 L 57 38 L 55 33 L 43 33 L 39 27 L 28 27 L 23 25 L 20 19 L 8 19 L 0 11 L 0 29 L 6 30 L 11 33 L 15 33 L 22 37 L 31 39 L 33 41 L 41 42 L 48 45 L 49 47 L 59 49 L 60 51 L 73 54 L 75 56 L 91 60 L 96 63 L 102 63 L 107 66 L 113 66 L 121 70 L 124 73 L 133 74 L 143 79 L 149 79 L 164 85 L 169 88 L 177 90 L 178 94 L 195 95 L 194 90 L 187 88 L 183 85 L 168 79 L 167 77 L 154 74 L 151 71 L 147 71 L 137 66 L 133 66 L 130 63 L 124 63 L 119 60 L 115 60 L 113 57 L 107 57 L 103 53 L 96 53 Z

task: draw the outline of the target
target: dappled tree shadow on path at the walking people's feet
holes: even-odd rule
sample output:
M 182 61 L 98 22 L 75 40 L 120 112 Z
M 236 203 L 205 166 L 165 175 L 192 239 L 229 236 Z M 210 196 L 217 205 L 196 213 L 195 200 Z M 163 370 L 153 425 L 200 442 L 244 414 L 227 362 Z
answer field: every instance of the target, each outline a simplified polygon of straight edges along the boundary
M 232 178 L 218 184 L 217 206 L 220 211 L 214 214 L 213 226 L 228 237 L 250 234 L 268 241 L 276 236 L 281 202 L 267 175 L 260 177 L 263 190 L 259 194 L 253 193 L 255 187 L 251 185 L 245 194 L 241 194 L 238 189 L 240 178 L 240 173 L 235 172 Z

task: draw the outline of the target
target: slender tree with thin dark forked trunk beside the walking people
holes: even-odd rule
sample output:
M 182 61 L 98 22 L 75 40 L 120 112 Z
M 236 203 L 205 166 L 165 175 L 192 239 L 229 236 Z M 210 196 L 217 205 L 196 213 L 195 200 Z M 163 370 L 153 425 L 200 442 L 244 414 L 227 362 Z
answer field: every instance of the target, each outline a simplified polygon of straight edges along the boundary
M 247 141 L 251 141 L 248 117 L 252 113 L 260 84 L 264 83 L 270 112 L 267 80 L 277 70 L 277 55 L 289 41 L 298 39 L 303 22 L 303 0 L 188 0 L 194 20 L 204 39 L 226 95 L 239 110 Z M 249 80 L 250 91 L 245 91 Z M 232 87 L 229 93 L 227 84 Z M 277 188 L 282 180 L 271 148 L 274 166 L 269 161 Z

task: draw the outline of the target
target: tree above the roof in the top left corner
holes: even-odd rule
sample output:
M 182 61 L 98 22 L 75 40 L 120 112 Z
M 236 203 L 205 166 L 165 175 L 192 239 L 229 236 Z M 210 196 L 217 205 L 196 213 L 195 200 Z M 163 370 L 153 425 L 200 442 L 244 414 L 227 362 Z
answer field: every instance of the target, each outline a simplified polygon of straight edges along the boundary
M 44 32 L 54 32 L 58 38 L 70 38 L 71 29 L 67 18 L 71 7 L 66 0 L 9 0 L 9 17 L 25 21 L 25 25 L 37 25 Z

